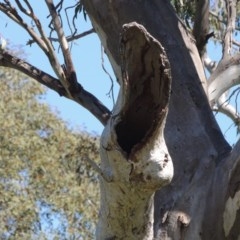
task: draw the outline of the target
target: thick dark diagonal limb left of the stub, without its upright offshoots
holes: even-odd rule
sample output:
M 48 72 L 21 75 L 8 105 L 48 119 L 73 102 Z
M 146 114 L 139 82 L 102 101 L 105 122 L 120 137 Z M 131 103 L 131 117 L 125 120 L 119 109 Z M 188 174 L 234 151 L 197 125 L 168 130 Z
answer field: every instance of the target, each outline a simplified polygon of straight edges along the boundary
M 60 96 L 64 96 L 77 102 L 89 110 L 103 125 L 106 125 L 111 115 L 111 112 L 95 96 L 85 91 L 79 83 L 77 87 L 78 91 L 70 97 L 58 79 L 6 51 L 0 52 L 0 66 L 17 69 L 29 77 L 37 80 L 39 83 L 54 90 Z

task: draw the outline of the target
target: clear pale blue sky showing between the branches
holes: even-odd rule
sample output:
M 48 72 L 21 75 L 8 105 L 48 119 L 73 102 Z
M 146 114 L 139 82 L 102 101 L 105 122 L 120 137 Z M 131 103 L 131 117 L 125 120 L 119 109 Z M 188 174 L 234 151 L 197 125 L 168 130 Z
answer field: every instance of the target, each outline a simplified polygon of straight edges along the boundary
M 74 3 L 74 1 L 72 2 Z M 34 4 L 34 6 L 36 9 L 41 9 L 41 11 L 36 11 L 36 13 L 39 14 L 38 17 L 43 20 L 44 25 L 46 26 L 46 31 L 48 31 L 47 25 L 49 20 L 44 15 L 44 13 L 46 13 L 44 10 L 46 9 L 44 1 L 38 1 L 38 3 Z M 79 32 L 84 32 L 91 28 L 90 21 L 88 20 L 85 22 L 82 15 L 78 16 L 77 26 Z M 14 24 L 2 13 L 0 13 L 0 29 L 0 33 L 10 42 L 10 45 L 21 47 L 26 54 L 26 59 L 28 62 L 50 74 L 53 74 L 47 58 L 41 53 L 36 45 L 33 44 L 31 47 L 26 46 L 26 42 L 29 40 L 29 37 L 24 30 Z M 70 33 L 69 30 L 67 31 Z M 211 58 L 214 60 L 220 59 L 221 49 L 218 46 L 210 43 L 209 50 Z M 102 101 L 109 109 L 112 109 L 113 100 L 108 96 L 111 82 L 101 67 L 101 44 L 97 35 L 91 34 L 79 41 L 73 42 L 72 56 L 75 63 L 75 68 L 77 69 L 79 82 L 87 91 L 96 95 L 98 99 L 100 99 L 100 101 Z M 61 56 L 60 59 L 62 59 Z M 111 66 L 106 57 L 104 58 L 104 61 L 105 67 L 115 80 Z M 117 98 L 117 92 L 118 86 L 115 83 L 115 99 Z M 45 101 L 51 105 L 51 108 L 54 111 L 58 111 L 59 115 L 66 120 L 70 126 L 74 128 L 78 126 L 89 132 L 101 134 L 103 130 L 101 123 L 87 110 L 75 102 L 63 97 L 59 97 L 57 93 L 51 90 L 48 90 Z M 238 136 L 236 135 L 236 129 L 234 128 L 232 121 L 227 117 L 222 116 L 222 114 L 217 114 L 217 119 L 227 140 L 230 142 L 230 144 L 235 143 Z

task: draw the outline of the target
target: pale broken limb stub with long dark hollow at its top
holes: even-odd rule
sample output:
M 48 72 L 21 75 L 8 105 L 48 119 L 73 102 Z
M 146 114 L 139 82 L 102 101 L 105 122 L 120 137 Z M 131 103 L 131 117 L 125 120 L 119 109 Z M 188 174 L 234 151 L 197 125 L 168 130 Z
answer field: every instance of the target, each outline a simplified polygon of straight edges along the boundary
M 173 176 L 163 129 L 170 66 L 162 46 L 136 23 L 123 26 L 121 89 L 102 134 L 97 239 L 152 239 L 154 193 Z M 107 179 L 107 181 L 106 181 Z

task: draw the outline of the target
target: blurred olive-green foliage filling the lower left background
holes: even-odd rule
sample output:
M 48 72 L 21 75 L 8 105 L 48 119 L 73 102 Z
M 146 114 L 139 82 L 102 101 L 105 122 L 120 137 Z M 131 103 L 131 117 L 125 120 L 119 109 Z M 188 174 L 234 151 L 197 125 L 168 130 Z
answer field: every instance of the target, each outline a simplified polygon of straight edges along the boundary
M 92 239 L 99 192 L 83 159 L 99 161 L 98 138 L 70 131 L 40 103 L 44 92 L 0 69 L 0 239 Z

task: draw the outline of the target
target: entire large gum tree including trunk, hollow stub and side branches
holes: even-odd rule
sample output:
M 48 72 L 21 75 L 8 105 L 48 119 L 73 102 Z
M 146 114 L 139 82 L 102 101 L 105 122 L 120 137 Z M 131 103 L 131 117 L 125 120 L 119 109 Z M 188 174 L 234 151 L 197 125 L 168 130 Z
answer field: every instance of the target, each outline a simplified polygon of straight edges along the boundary
M 29 33 L 28 44 L 40 47 L 55 76 L 4 42 L 0 65 L 79 103 L 105 126 L 101 163 L 90 161 L 100 175 L 96 238 L 239 239 L 240 142 L 232 149 L 212 114 L 221 111 L 239 127 L 237 104 L 226 94 L 240 82 L 238 1 L 45 3 L 50 29 L 30 1 L 1 1 L 0 11 Z M 73 21 L 65 23 L 67 9 Z M 77 78 L 69 42 L 85 35 L 77 34 L 79 12 L 89 16 L 120 85 L 112 111 Z M 223 49 L 219 63 L 206 49 L 214 36 Z

